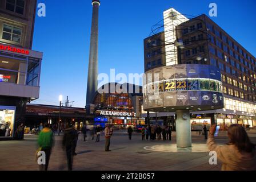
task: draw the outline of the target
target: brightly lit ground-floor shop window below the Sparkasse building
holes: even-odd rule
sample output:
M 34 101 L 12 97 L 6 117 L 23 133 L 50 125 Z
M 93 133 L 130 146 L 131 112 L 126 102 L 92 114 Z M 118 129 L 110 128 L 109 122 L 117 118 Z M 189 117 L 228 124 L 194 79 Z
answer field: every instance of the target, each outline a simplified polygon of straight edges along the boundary
M 14 135 L 15 107 L 0 106 L 0 137 Z

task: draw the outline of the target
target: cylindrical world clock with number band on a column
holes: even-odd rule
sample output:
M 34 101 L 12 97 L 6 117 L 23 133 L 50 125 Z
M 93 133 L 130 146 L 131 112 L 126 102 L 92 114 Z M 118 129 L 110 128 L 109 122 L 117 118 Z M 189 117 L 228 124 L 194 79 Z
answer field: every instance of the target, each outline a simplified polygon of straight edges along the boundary
M 223 107 L 221 71 L 216 67 L 179 64 L 146 72 L 143 108 L 146 111 L 175 111 L 177 147 L 191 147 L 190 111 Z

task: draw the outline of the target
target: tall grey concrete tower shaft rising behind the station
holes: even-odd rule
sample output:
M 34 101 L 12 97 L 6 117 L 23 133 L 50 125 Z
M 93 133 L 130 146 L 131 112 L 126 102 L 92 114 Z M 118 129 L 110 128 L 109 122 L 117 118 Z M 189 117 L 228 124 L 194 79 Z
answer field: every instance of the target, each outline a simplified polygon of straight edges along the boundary
M 98 31 L 99 31 L 99 0 L 93 0 L 93 18 L 91 21 L 90 57 L 87 78 L 86 107 L 92 102 L 93 96 L 98 89 Z

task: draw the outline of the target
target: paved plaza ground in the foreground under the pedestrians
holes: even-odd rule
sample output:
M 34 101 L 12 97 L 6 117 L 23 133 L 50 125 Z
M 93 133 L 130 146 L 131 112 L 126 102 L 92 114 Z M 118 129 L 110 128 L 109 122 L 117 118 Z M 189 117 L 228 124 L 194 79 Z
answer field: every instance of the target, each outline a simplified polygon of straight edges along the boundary
M 193 143 L 205 143 L 203 136 L 193 132 Z M 74 170 L 85 171 L 154 171 L 154 170 L 220 170 L 218 165 L 209 164 L 208 152 L 158 152 L 148 151 L 144 147 L 156 144 L 175 143 L 173 140 L 142 141 L 141 135 L 134 134 L 132 140 L 128 140 L 126 133 L 116 133 L 111 138 L 110 152 L 105 152 L 105 140 L 100 142 L 89 139 L 88 142 L 79 136 L 77 144 L 77 156 L 74 156 Z M 256 143 L 256 133 L 250 131 L 251 140 Z M 222 131 L 217 137 L 217 143 L 227 142 L 226 133 Z M 67 170 L 66 156 L 61 146 L 62 137 L 55 137 L 55 146 L 51 153 L 49 170 Z M 25 135 L 23 141 L 0 142 L 0 170 L 1 171 L 35 171 L 38 170 L 35 161 L 37 150 L 37 136 Z

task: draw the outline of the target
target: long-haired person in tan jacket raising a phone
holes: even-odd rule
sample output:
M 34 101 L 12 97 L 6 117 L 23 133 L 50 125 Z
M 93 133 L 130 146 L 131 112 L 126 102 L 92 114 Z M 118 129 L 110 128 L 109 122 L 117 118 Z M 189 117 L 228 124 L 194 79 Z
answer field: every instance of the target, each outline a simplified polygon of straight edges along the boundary
M 251 143 L 245 129 L 238 124 L 231 125 L 227 131 L 229 143 L 219 146 L 215 143 L 214 134 L 216 125 L 210 127 L 207 146 L 210 151 L 217 153 L 222 162 L 222 171 L 255 171 L 256 149 Z

